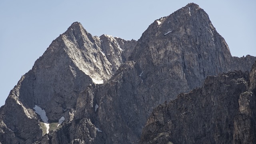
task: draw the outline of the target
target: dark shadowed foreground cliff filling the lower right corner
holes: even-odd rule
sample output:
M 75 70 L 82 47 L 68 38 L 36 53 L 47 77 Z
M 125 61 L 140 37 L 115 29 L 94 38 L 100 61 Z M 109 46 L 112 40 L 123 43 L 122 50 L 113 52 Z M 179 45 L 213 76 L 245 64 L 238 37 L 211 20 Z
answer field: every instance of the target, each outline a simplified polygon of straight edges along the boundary
M 256 64 L 256 63 L 255 63 Z M 141 144 L 253 144 L 256 140 L 255 64 L 250 72 L 208 76 L 202 88 L 154 109 Z

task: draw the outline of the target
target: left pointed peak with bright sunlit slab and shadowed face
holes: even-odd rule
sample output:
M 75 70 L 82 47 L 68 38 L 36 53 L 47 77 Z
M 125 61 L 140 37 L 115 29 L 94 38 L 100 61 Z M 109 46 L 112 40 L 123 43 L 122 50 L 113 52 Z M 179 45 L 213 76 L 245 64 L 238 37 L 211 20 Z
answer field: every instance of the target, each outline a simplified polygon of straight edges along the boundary
M 113 74 L 99 38 L 75 22 L 25 74 L 19 98 L 30 108 L 37 105 L 44 109 L 49 122 L 58 122 L 64 110 L 75 107 L 76 97 L 84 87 L 102 83 Z

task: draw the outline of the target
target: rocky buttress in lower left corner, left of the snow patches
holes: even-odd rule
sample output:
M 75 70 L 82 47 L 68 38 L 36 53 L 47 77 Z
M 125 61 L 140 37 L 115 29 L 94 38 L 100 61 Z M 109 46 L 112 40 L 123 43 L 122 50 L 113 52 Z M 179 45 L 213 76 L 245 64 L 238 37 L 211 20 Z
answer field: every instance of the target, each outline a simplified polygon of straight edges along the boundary
M 33 110 L 19 100 L 24 76 L 11 90 L 6 104 L 0 108 L 0 142 L 3 144 L 32 143 L 42 137 L 42 126 Z

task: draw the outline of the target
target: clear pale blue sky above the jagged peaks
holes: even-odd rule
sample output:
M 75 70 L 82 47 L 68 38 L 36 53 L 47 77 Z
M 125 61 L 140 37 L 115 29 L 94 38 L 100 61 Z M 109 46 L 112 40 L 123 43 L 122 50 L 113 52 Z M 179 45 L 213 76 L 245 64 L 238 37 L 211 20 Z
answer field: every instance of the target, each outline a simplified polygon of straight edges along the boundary
M 0 106 L 52 40 L 73 22 L 93 36 L 138 40 L 154 20 L 194 2 L 224 37 L 232 56 L 256 56 L 255 0 L 1 0 Z

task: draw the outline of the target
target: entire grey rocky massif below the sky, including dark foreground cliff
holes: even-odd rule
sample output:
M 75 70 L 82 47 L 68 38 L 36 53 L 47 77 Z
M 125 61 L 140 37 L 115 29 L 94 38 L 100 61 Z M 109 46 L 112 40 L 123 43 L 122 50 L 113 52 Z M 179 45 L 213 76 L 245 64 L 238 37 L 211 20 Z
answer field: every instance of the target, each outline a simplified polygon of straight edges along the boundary
M 255 60 L 232 57 L 194 3 L 138 41 L 74 22 L 10 91 L 0 143 L 253 143 Z

